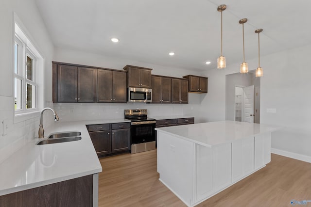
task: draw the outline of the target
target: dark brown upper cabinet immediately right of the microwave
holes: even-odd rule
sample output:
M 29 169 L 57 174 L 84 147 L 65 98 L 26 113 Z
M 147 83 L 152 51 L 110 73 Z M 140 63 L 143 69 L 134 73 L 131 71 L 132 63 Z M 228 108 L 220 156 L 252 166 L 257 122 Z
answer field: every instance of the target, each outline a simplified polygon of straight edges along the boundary
M 152 76 L 152 103 L 172 103 L 172 78 Z

